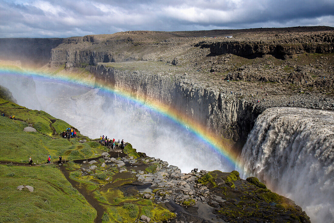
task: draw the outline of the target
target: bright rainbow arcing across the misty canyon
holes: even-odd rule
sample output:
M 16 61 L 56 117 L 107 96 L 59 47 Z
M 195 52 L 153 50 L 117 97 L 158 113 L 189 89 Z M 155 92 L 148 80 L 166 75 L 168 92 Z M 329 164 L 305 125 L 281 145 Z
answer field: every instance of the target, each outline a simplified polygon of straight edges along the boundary
M 207 143 L 211 148 L 213 148 L 214 152 L 223 156 L 230 164 L 234 165 L 237 170 L 243 170 L 243 164 L 239 155 L 233 151 L 230 146 L 223 145 L 222 140 L 217 138 L 215 134 L 209 131 L 204 126 L 195 123 L 189 117 L 184 114 L 180 114 L 176 109 L 171 108 L 157 100 L 155 101 L 144 101 L 140 98 L 135 98 L 130 94 L 130 91 L 127 89 L 114 89 L 112 86 L 106 85 L 106 83 L 99 83 L 98 81 L 92 80 L 82 80 L 79 79 L 78 76 L 74 74 L 66 74 L 66 76 L 58 76 L 52 73 L 44 73 L 32 70 L 22 70 L 15 66 L 0 66 L 0 75 L 1 74 L 10 74 L 10 75 L 18 75 L 18 76 L 27 76 L 27 77 L 39 77 L 39 78 L 47 78 L 54 79 L 58 81 L 63 81 L 72 84 L 78 84 L 82 86 L 103 86 L 101 89 L 108 93 L 113 93 L 122 98 L 131 100 L 132 102 L 148 108 L 149 110 L 156 112 L 168 119 L 172 120 L 174 123 L 187 128 L 188 131 L 196 135 L 202 141 Z

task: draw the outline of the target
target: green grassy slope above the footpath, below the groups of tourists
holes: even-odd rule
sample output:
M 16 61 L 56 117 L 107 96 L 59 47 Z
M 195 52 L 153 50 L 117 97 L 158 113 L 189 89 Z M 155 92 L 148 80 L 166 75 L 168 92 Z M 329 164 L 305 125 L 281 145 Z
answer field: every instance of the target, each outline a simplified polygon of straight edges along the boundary
M 29 156 L 34 162 L 46 162 L 46 156 L 52 159 L 59 155 L 63 159 L 81 159 L 96 157 L 105 150 L 99 143 L 89 142 L 88 137 L 78 134 L 78 138 L 63 139 L 59 133 L 65 130 L 68 123 L 56 119 L 44 111 L 30 110 L 6 100 L 0 92 L 0 112 L 5 117 L 0 117 L 0 160 L 28 162 Z M 9 115 L 15 115 L 15 119 L 9 119 Z M 32 125 L 37 132 L 24 132 L 23 129 Z M 55 134 L 55 132 L 57 134 Z M 87 142 L 79 143 L 78 140 L 86 139 Z

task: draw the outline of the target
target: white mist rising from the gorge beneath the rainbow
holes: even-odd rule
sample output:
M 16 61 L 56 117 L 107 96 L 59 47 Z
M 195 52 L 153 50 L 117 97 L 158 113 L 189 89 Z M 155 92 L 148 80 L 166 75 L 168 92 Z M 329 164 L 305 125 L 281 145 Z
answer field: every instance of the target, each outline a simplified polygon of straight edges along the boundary
M 38 103 L 25 100 L 30 96 L 20 91 L 18 104 L 24 103 L 30 109 L 40 106 L 92 139 L 101 135 L 116 141 L 124 139 L 137 151 L 178 166 L 182 173 L 194 168 L 225 172 L 235 169 L 233 163 L 185 126 L 130 98 L 46 78 L 34 77 L 34 82 Z

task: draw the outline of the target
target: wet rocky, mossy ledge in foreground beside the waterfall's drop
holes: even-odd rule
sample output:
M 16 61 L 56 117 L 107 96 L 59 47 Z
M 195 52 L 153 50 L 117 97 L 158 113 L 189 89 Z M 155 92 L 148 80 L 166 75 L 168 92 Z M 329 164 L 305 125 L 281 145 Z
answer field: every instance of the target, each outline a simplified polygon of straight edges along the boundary
M 116 207 L 116 214 L 114 211 L 112 215 L 105 206 L 110 219 L 126 218 L 122 210 L 127 209 L 123 200 L 128 198 L 133 200 L 133 205 L 138 205 L 138 199 L 146 200 L 141 203 L 153 204 L 150 212 L 142 208 L 136 212 L 144 222 L 310 222 L 292 200 L 271 192 L 257 178 L 240 179 L 237 171 L 195 169 L 184 174 L 166 161 L 137 153 L 130 144 L 125 152 L 130 148 L 129 155 L 117 149 L 103 153 L 104 159 L 75 161 L 76 164 L 71 165 L 71 179 L 77 182 L 91 179 L 98 183 L 93 195 Z M 110 197 L 112 194 L 117 196 Z M 165 218 L 159 216 L 155 210 L 159 207 L 169 210 L 170 214 L 165 212 Z

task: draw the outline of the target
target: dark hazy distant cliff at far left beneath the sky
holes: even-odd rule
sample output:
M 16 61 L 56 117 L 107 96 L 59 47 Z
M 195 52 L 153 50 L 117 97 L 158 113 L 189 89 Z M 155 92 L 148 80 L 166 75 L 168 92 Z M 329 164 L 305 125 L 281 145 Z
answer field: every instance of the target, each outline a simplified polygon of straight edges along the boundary
M 19 60 L 22 65 L 44 65 L 51 49 L 63 38 L 0 38 L 0 60 Z

